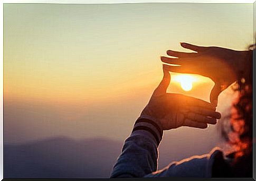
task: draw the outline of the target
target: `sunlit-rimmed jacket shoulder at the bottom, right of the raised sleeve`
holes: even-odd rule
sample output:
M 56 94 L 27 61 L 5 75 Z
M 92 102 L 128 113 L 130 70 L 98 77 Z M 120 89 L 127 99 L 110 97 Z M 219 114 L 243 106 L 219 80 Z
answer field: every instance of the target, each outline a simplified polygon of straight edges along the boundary
M 208 154 L 170 163 L 164 169 L 149 174 L 148 177 L 212 177 L 215 157 L 223 157 L 223 152 L 218 147 Z

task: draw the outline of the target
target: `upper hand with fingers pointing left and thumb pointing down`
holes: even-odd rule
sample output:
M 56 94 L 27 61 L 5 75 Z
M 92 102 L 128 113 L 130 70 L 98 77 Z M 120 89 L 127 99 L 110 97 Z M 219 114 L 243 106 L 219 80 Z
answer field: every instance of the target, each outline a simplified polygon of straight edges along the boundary
M 210 102 L 217 106 L 217 97 L 220 93 L 236 81 L 241 71 L 245 68 L 245 57 L 248 51 L 234 51 L 221 47 L 203 47 L 181 43 L 184 48 L 196 53 L 167 51 L 169 56 L 178 58 L 161 57 L 162 62 L 178 64 L 181 66 L 168 66 L 170 72 L 200 74 L 212 79 L 215 83 Z

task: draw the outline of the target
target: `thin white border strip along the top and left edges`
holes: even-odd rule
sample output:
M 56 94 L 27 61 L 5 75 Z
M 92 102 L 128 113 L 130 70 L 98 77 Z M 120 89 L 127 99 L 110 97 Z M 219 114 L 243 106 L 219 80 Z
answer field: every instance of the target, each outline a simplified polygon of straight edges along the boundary
M 0 24 L 1 24 L 1 37 L 0 47 L 3 49 L 3 3 L 58 3 L 58 4 L 113 4 L 113 3 L 254 3 L 256 0 L 4 0 L 0 3 Z M 3 179 L 3 51 L 0 51 L 0 179 Z

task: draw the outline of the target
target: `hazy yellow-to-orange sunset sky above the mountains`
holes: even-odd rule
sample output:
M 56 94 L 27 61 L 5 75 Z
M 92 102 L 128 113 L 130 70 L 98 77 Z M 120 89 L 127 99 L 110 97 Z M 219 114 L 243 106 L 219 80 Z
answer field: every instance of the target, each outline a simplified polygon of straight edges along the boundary
M 167 49 L 245 50 L 252 35 L 252 4 L 4 4 L 4 142 L 124 140 L 162 79 Z M 168 92 L 209 101 L 213 82 L 196 77 L 191 91 L 173 81 Z M 220 96 L 221 113 L 233 96 Z

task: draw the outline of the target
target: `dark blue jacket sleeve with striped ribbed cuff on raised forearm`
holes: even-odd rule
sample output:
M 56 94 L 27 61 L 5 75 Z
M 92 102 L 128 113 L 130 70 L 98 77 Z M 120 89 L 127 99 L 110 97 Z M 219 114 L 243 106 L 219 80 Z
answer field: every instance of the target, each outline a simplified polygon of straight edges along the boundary
M 125 140 L 110 178 L 144 177 L 157 170 L 158 145 L 163 129 L 154 119 L 139 117 Z

